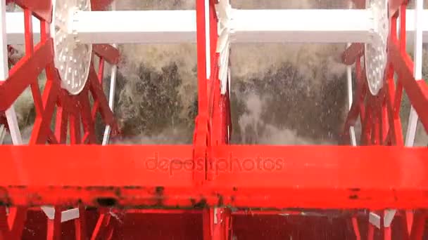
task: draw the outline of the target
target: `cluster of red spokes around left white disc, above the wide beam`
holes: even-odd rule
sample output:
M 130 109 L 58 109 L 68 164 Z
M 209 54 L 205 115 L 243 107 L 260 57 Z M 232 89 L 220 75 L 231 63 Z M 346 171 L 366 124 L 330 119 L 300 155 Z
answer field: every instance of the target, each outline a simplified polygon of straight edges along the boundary
M 118 51 L 109 46 L 99 44 L 94 46 L 94 52 L 100 57 L 99 73 L 95 72 L 93 64 L 89 72 L 89 81 L 82 93 L 69 95 L 60 88 L 58 72 L 53 67 L 53 46 L 49 36 L 48 23 L 51 20 L 51 1 L 15 1 L 25 11 L 25 56 L 12 67 L 7 81 L 0 85 L 0 111 L 4 112 L 31 86 L 36 108 L 36 120 L 30 139 L 30 144 L 65 143 L 67 140 L 68 124 L 70 125 L 70 142 L 95 143 L 94 120 L 97 112 L 101 113 L 106 125 L 117 131 L 113 113 L 108 107 L 106 96 L 102 90 L 103 62 L 118 63 Z M 46 16 L 49 12 L 49 16 Z M 32 14 L 41 20 L 41 41 L 37 46 L 32 43 Z M 46 69 L 46 86 L 40 93 L 37 77 Z M 29 78 L 28 76 L 34 76 Z M 94 107 L 89 103 L 89 94 L 94 98 Z M 56 128 L 51 131 L 50 125 L 56 108 Z M 80 125 L 83 125 L 84 135 L 81 136 Z

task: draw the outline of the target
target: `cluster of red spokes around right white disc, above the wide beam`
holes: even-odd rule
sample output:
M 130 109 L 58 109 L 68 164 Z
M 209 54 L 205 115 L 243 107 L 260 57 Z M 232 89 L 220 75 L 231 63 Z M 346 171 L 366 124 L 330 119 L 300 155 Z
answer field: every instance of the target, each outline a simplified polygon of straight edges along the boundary
M 405 9 L 405 4 L 403 9 Z M 413 62 L 405 52 L 405 25 L 401 25 L 400 39 L 396 36 L 397 17 L 396 15 L 391 21 L 386 84 L 378 96 L 372 96 L 367 91 L 364 69 L 360 66 L 360 60 L 356 60 L 358 86 L 345 124 L 346 141 L 349 139 L 349 126 L 355 124 L 359 115 L 360 119 L 363 119 L 362 143 L 378 142 L 382 145 L 403 145 L 401 120 L 399 119 L 403 90 L 408 94 L 410 102 L 420 116 L 422 125 L 428 129 L 428 113 L 424 111 L 424 106 L 428 105 L 428 86 L 423 80 L 415 81 L 413 77 Z M 405 22 L 405 15 L 400 15 L 400 17 L 401 22 Z M 350 48 L 348 51 L 351 51 Z M 398 75 L 397 86 L 394 83 L 394 72 Z M 377 134 L 378 131 L 379 134 L 382 132 L 382 138 Z

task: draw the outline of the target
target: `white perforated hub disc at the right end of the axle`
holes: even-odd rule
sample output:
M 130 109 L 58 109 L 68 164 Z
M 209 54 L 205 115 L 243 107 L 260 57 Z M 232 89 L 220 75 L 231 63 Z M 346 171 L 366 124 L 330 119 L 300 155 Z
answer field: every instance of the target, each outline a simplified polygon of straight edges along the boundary
M 372 11 L 372 41 L 364 45 L 365 74 L 370 93 L 377 95 L 384 86 L 389 35 L 388 0 L 366 1 L 367 9 Z

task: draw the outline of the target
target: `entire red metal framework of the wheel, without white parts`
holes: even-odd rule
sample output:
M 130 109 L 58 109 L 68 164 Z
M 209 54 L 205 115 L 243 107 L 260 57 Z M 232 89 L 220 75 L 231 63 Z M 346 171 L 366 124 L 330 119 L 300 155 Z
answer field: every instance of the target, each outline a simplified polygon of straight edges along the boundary
M 60 214 L 68 206 L 79 208 L 80 218 L 74 220 L 73 227 L 68 227 L 73 229 L 76 239 L 122 239 L 120 236 L 124 237 L 126 230 L 121 228 L 125 225 L 118 223 L 116 213 L 139 215 L 138 218 L 143 219 L 148 215 L 151 220 L 157 218 L 153 214 L 168 215 L 172 219 L 172 215 L 185 213 L 185 218 L 192 222 L 191 215 L 197 214 L 202 215 L 202 221 L 200 225 L 198 221 L 195 224 L 202 231 L 192 233 L 195 238 L 202 235 L 203 239 L 231 239 L 236 235 L 248 239 L 255 236 L 252 229 L 260 231 L 260 222 L 251 225 L 249 216 L 262 215 L 258 219 L 270 219 L 269 227 L 275 224 L 284 227 L 284 218 L 280 216 L 279 219 L 278 214 L 287 213 L 299 219 L 302 208 L 342 209 L 346 217 L 336 223 L 354 232 L 338 235 L 338 239 L 365 236 L 373 239 L 374 227 L 365 224 L 365 214 L 362 217 L 356 208 L 377 210 L 381 216 L 386 208 L 428 208 L 428 196 L 424 194 L 428 190 L 428 165 L 424 161 L 428 159 L 428 151 L 403 147 L 398 116 L 405 89 L 428 129 L 428 113 L 423 111 L 428 105 L 428 88 L 413 79 L 413 63 L 403 48 L 405 29 L 401 28 L 400 39 L 394 34 L 397 10 L 405 9 L 405 1 L 390 3 L 392 27 L 387 84 L 377 97 L 367 91 L 360 65 L 363 44 L 353 44 L 343 57 L 348 65 L 356 62 L 358 81 L 357 94 L 346 119 L 344 140 L 348 139 L 349 126 L 360 116 L 363 119 L 362 145 L 377 145 L 370 147 L 228 145 L 230 105 L 228 93 L 220 93 L 219 55 L 215 52 L 218 40 L 215 0 L 210 1 L 209 29 L 205 25 L 204 1 L 196 1 L 199 112 L 193 145 L 43 146 L 46 142 L 65 143 L 68 124 L 72 145 L 95 143 L 96 112 L 101 113 L 106 124 L 117 127 L 102 91 L 102 76 L 104 60 L 116 64 L 119 55 L 109 45 L 95 45 L 94 53 L 101 58 L 99 72 L 92 65 L 82 93 L 68 95 L 60 88 L 58 73 L 53 67 L 52 39 L 47 27 L 51 21 L 50 1 L 15 2 L 25 9 L 27 54 L 11 69 L 8 80 L 0 85 L 0 111 L 10 107 L 18 95 L 31 86 L 37 117 L 30 146 L 0 147 L 2 156 L 7 159 L 0 168 L 0 205 L 4 205 L 0 206 L 0 239 L 20 239 L 27 218 L 39 214 L 39 208 L 32 206 L 45 204 L 56 206 L 55 218 L 46 222 L 47 239 L 59 239 L 61 232 L 68 231 L 65 230 L 68 225 L 61 224 Z M 110 3 L 111 0 L 92 1 L 92 8 L 102 10 Z M 363 6 L 363 1 L 355 3 Z M 37 46 L 30 44 L 32 14 L 42 20 L 42 41 Z M 405 15 L 400 18 L 405 26 Z M 210 32 L 211 50 L 208 79 L 206 31 Z M 35 78 L 42 69 L 46 69 L 47 76 L 43 95 Z M 399 76 L 398 86 L 394 86 L 393 72 Z M 93 107 L 89 94 L 94 98 Z M 55 107 L 56 128 L 51 130 Z M 80 135 L 80 121 L 83 136 Z M 385 175 L 394 178 L 385 178 Z M 9 207 L 8 215 L 5 206 Z M 96 206 L 98 210 L 94 212 L 84 206 Z M 123 210 L 112 211 L 113 206 Z M 243 222 L 244 219 L 247 222 Z M 402 239 L 422 238 L 424 211 L 399 211 L 396 219 L 394 222 L 399 223 L 395 225 L 403 229 Z M 247 234 L 243 234 L 243 226 Z M 320 232 L 328 232 L 325 225 L 315 227 L 319 227 Z M 313 237 L 308 232 L 296 232 L 291 228 L 288 225 L 287 236 L 294 239 Z M 384 239 L 390 239 L 391 227 L 382 227 L 381 234 Z M 161 238 L 156 234 L 151 238 L 155 236 Z M 191 239 L 189 234 L 182 236 Z

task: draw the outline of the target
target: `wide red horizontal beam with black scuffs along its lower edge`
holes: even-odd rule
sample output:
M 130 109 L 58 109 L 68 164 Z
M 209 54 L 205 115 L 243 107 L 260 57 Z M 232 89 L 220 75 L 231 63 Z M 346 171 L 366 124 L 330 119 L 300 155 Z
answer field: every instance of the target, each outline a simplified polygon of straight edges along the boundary
M 15 206 L 428 207 L 427 148 L 213 147 L 215 178 L 201 187 L 192 179 L 191 146 L 1 146 L 0 152 L 0 201 Z

